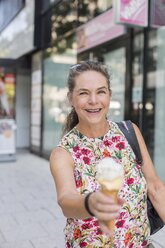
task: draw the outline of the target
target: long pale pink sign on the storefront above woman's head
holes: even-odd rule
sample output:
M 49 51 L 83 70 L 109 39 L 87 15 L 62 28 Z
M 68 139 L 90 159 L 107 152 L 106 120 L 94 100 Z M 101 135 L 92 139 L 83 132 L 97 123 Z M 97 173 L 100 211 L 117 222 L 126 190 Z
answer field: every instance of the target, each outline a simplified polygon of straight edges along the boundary
M 114 24 L 113 9 L 77 29 L 78 53 L 125 34 L 123 25 Z

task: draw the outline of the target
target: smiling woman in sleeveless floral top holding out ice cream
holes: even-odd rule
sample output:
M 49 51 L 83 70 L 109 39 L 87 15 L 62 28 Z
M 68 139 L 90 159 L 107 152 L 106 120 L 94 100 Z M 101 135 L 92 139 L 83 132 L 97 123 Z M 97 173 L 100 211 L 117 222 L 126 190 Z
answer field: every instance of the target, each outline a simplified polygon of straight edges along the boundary
M 111 89 L 105 66 L 90 61 L 73 66 L 68 88 L 72 111 L 66 134 L 50 157 L 58 203 L 67 217 L 66 247 L 146 247 L 150 233 L 147 192 L 165 220 L 165 187 L 142 135 L 133 124 L 143 157 L 139 166 L 116 123 L 107 120 Z M 97 163 L 106 156 L 121 163 L 125 172 L 117 204 L 100 191 L 97 181 Z M 116 219 L 113 233 L 106 226 L 112 219 Z

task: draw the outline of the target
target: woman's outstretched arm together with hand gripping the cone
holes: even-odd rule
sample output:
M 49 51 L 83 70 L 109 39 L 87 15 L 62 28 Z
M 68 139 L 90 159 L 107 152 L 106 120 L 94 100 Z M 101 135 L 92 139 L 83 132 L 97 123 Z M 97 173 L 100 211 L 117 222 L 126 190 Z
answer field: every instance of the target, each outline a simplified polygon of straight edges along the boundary
M 91 215 L 84 207 L 84 196 L 76 189 L 73 168 L 73 159 L 65 149 L 58 147 L 52 151 L 50 169 L 56 185 L 58 203 L 64 215 L 67 218 L 89 218 Z M 119 204 L 115 204 L 111 197 L 100 191 L 92 193 L 88 201 L 90 211 L 102 223 L 106 232 L 108 230 L 103 222 L 117 218 L 122 203 L 119 199 Z

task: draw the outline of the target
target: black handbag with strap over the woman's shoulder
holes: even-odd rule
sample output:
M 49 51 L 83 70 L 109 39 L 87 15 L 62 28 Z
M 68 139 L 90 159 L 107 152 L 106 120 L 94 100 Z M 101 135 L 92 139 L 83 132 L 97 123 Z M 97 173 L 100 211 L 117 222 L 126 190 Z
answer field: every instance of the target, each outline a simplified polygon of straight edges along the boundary
M 139 143 L 138 143 L 132 122 L 130 120 L 127 120 L 127 121 L 116 122 L 116 123 L 119 126 L 122 133 L 124 134 L 124 136 L 126 137 L 133 152 L 135 153 L 137 163 L 142 164 L 142 156 L 140 152 L 140 147 L 139 147 Z M 147 214 L 148 214 L 148 219 L 149 219 L 150 229 L 151 229 L 150 234 L 155 234 L 164 226 L 164 222 L 159 217 L 157 211 L 155 210 L 149 198 L 147 198 Z

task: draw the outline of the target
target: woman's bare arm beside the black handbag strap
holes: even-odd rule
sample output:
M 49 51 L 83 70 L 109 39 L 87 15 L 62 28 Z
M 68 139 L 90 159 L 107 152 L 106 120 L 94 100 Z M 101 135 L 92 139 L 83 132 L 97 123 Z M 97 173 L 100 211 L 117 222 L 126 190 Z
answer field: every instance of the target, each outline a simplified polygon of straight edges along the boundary
M 148 196 L 161 219 L 165 222 L 165 185 L 156 174 L 139 128 L 135 124 L 133 126 L 142 154 L 142 171 L 147 182 Z

